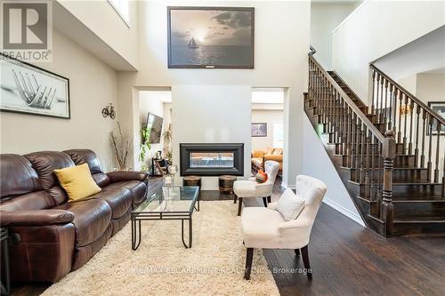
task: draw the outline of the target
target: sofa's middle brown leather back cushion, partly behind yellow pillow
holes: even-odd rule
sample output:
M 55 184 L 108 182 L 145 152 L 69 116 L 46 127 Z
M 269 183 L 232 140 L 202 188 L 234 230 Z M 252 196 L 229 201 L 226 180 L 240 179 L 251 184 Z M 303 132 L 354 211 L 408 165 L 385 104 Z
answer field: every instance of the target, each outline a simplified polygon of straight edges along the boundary
M 52 188 L 58 184 L 54 170 L 74 166 L 74 162 L 63 152 L 42 151 L 27 154 L 32 167 L 36 170 L 44 189 Z

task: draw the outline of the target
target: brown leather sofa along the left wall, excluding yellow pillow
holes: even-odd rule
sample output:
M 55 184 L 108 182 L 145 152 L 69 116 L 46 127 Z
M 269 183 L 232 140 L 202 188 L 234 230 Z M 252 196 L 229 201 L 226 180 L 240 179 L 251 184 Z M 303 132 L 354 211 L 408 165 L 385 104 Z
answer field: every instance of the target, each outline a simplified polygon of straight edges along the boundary
M 84 163 L 102 190 L 68 203 L 53 171 Z M 82 267 L 130 220 L 148 189 L 147 173 L 104 173 L 88 149 L 2 154 L 0 169 L 0 223 L 15 241 L 12 281 L 54 283 Z

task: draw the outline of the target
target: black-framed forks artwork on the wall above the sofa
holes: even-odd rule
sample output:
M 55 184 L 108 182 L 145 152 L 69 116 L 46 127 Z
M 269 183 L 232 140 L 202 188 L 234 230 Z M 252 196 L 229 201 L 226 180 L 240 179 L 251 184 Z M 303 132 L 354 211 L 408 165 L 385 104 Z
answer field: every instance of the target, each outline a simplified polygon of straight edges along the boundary
M 0 53 L 0 110 L 65 119 L 69 79 Z

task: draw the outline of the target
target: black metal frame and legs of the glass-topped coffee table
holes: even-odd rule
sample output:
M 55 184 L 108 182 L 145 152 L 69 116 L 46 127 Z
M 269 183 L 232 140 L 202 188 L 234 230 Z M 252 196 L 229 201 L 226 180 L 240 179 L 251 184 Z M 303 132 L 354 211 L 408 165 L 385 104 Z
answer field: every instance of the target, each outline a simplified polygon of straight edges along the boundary
M 196 186 L 190 186 L 196 187 Z M 198 187 L 196 187 L 198 188 Z M 159 190 L 162 190 L 160 188 Z M 156 193 L 155 193 L 156 194 Z M 182 236 L 182 244 L 186 249 L 191 248 L 191 243 L 193 240 L 193 220 L 191 218 L 193 214 L 193 210 L 199 212 L 199 188 L 198 194 L 196 198 L 191 200 L 192 205 L 190 206 L 190 211 L 188 212 L 132 212 L 131 213 L 131 221 L 132 221 L 132 249 L 135 251 L 141 244 L 142 240 L 142 220 L 181 220 L 181 236 Z M 198 204 L 198 207 L 196 205 Z M 137 209 L 137 208 L 136 208 Z M 189 221 L 189 244 L 185 243 L 184 240 L 184 220 Z

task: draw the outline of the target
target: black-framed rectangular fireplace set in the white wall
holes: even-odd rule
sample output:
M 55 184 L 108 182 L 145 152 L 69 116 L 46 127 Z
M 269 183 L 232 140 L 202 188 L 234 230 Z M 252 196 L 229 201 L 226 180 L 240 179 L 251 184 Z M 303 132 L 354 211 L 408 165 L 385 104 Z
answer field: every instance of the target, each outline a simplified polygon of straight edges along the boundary
M 181 176 L 244 175 L 243 143 L 182 143 Z

